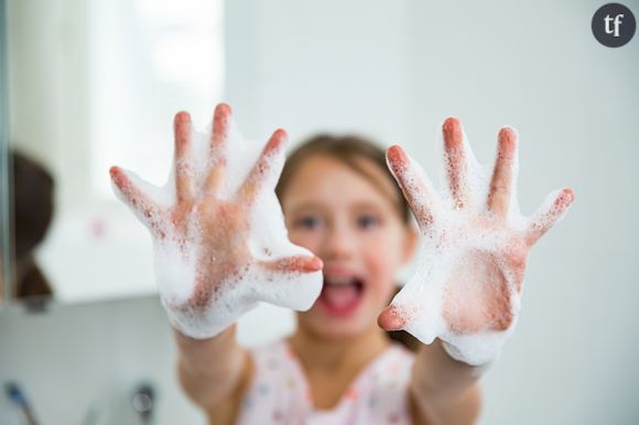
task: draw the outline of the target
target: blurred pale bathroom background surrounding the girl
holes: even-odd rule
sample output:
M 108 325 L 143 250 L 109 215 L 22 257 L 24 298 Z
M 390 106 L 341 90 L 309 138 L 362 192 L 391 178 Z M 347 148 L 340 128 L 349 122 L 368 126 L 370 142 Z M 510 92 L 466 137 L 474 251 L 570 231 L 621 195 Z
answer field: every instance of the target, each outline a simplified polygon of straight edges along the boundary
M 163 184 L 173 115 L 204 128 L 219 101 L 250 139 L 357 132 L 402 144 L 438 182 L 446 117 L 483 163 L 499 127 L 517 128 L 522 212 L 563 186 L 576 203 L 531 254 L 480 424 L 637 423 L 639 35 L 600 45 L 591 20 L 604 2 L 0 4 L 0 384 L 42 424 L 136 424 L 149 399 L 155 424 L 205 423 L 176 381 L 150 238 L 108 167 Z M 239 338 L 293 326 L 262 306 Z M 21 415 L 0 394 L 0 423 Z

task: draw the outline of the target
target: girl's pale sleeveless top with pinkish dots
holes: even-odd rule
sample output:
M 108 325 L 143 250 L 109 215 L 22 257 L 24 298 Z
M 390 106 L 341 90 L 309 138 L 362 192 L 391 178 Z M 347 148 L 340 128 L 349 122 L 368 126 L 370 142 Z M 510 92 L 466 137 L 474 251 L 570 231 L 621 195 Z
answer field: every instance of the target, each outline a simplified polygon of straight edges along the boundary
M 408 385 L 414 355 L 392 344 L 332 410 L 315 410 L 295 353 L 283 339 L 250 350 L 253 379 L 238 425 L 410 425 Z

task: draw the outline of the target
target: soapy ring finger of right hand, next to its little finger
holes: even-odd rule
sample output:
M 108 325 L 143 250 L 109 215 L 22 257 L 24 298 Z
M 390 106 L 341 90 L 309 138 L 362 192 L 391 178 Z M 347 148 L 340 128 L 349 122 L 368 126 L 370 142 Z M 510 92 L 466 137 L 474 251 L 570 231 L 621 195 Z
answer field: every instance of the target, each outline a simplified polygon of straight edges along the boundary
M 517 131 L 510 127 L 499 130 L 497 161 L 488 193 L 488 209 L 506 216 L 510 206 L 510 196 L 516 185 L 518 172 Z

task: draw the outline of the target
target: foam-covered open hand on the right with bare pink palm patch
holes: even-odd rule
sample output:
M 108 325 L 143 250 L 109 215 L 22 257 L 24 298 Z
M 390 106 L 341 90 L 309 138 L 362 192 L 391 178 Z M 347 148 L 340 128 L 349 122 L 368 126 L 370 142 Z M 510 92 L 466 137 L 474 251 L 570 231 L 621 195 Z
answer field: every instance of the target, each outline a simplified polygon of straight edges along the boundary
M 515 328 L 528 253 L 566 212 L 570 188 L 551 193 L 530 218 L 516 196 L 518 137 L 500 129 L 491 177 L 477 163 L 459 121 L 443 126 L 448 190 L 437 194 L 400 146 L 387 161 L 423 235 L 415 274 L 379 316 L 424 344 L 438 337 L 448 353 L 485 364 Z

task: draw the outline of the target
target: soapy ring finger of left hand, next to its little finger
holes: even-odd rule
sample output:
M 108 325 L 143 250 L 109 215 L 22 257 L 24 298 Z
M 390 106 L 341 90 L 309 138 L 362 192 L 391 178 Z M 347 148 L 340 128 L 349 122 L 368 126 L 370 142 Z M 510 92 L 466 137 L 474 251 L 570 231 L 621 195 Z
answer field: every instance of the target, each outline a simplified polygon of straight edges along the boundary
M 191 116 L 188 112 L 175 115 L 175 195 L 177 201 L 191 200 L 195 196 L 195 177 L 191 151 Z

